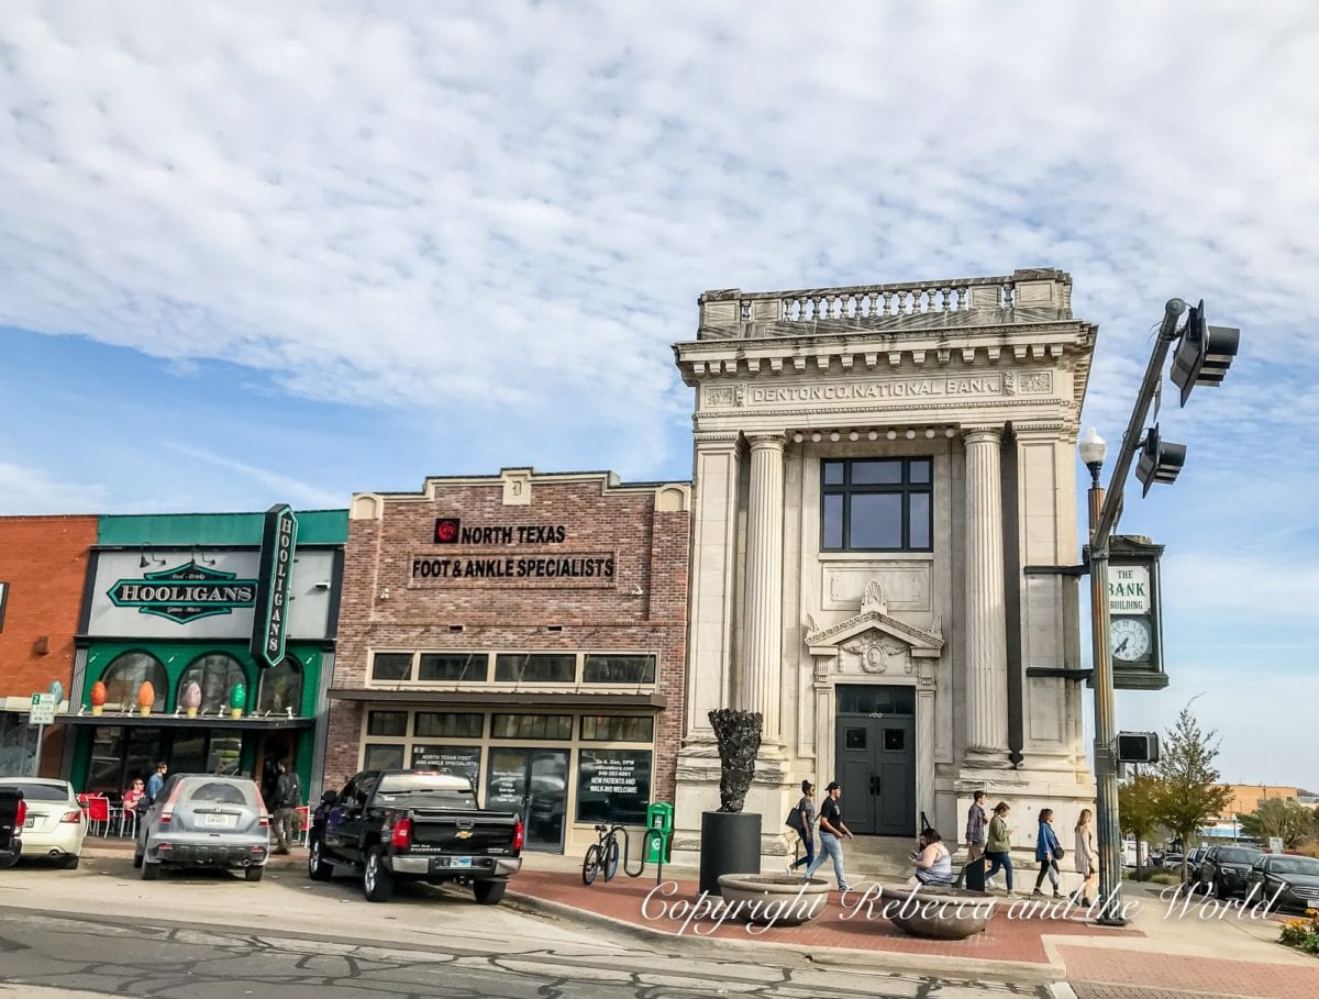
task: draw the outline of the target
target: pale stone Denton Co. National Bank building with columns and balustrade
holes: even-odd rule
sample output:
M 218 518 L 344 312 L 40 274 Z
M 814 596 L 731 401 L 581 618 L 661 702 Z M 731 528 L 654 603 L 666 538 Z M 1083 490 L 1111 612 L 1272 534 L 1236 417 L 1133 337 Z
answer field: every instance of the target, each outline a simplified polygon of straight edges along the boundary
M 719 807 L 707 718 L 764 716 L 747 809 L 790 849 L 803 778 L 857 836 L 950 842 L 984 788 L 1071 828 L 1092 807 L 1074 565 L 1076 434 L 1096 327 L 1071 277 L 707 291 L 674 345 L 695 389 L 678 855 Z M 689 853 L 690 851 L 690 853 Z

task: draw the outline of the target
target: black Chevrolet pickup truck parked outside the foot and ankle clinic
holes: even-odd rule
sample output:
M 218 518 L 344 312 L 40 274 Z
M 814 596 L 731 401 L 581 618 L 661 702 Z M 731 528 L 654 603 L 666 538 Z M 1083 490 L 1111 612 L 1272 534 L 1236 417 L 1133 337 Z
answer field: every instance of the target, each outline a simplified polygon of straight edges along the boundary
M 471 884 L 493 905 L 522 866 L 522 820 L 476 805 L 464 776 L 423 770 L 367 770 L 327 791 L 307 837 L 307 874 L 361 871 L 369 901 L 388 901 L 398 878 Z

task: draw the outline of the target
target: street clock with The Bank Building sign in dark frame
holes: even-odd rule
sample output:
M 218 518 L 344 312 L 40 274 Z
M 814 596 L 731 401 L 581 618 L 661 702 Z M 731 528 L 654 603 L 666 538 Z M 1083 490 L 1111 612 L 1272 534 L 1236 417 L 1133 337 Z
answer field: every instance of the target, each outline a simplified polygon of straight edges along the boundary
M 1108 655 L 1113 687 L 1158 691 L 1163 672 L 1163 619 L 1159 610 L 1162 544 L 1138 535 L 1108 543 Z

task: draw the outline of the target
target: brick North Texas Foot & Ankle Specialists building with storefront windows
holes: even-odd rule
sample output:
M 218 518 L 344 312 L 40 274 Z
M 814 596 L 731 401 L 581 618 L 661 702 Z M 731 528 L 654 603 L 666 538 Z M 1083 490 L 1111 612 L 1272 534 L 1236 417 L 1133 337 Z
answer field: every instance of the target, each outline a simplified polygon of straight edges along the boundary
M 547 851 L 671 801 L 690 493 L 504 469 L 356 494 L 326 785 L 359 768 L 467 774 Z

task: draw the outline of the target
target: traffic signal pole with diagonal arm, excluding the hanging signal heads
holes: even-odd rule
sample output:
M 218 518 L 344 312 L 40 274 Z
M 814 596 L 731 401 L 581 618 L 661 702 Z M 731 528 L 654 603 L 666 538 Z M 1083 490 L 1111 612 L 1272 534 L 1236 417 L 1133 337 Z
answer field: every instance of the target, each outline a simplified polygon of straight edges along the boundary
M 1163 311 L 1145 381 L 1132 410 L 1132 418 L 1117 449 L 1108 490 L 1099 484 L 1100 465 L 1091 468 L 1089 501 L 1089 602 L 1091 650 L 1095 659 L 1095 778 L 1096 832 L 1099 840 L 1099 923 L 1108 927 L 1126 925 L 1122 915 L 1121 828 L 1117 821 L 1117 712 L 1113 702 L 1113 663 L 1108 648 L 1108 539 L 1122 505 L 1122 485 L 1132 471 L 1132 460 L 1141 449 L 1141 431 L 1158 390 L 1167 352 L 1178 339 L 1177 320 L 1186 311 L 1186 302 L 1169 299 Z M 1137 858 L 1137 862 L 1140 858 Z

